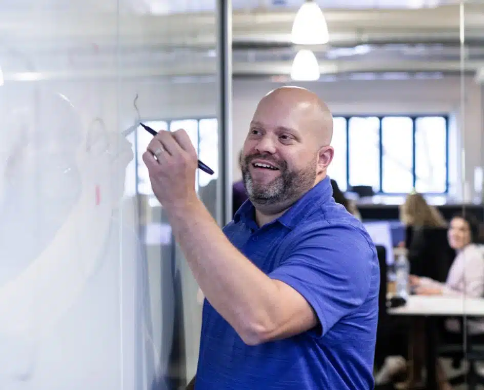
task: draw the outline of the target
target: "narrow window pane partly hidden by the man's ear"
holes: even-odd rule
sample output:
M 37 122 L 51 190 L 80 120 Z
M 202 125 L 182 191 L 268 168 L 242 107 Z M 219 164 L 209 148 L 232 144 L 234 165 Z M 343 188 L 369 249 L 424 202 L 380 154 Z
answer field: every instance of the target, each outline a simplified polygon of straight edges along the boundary
M 347 174 L 347 133 L 346 118 L 336 117 L 333 119 L 333 139 L 331 145 L 334 148 L 334 158 L 328 167 L 328 175 L 336 180 L 341 191 L 346 191 Z

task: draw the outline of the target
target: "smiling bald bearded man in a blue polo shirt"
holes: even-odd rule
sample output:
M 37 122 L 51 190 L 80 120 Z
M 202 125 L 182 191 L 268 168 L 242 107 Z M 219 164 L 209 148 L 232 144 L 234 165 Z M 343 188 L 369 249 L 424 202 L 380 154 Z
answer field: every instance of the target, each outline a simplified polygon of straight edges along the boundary
M 196 390 L 373 388 L 378 260 L 331 196 L 331 137 L 314 93 L 267 94 L 243 149 L 250 202 L 223 231 L 197 200 L 185 131 L 159 133 L 143 155 L 207 298 Z

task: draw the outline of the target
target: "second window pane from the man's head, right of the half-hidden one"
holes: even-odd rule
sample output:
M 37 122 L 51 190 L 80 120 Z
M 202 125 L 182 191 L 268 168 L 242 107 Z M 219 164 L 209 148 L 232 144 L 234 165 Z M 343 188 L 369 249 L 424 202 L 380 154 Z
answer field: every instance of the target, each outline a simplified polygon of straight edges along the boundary
M 375 117 L 353 117 L 349 121 L 350 185 L 371 186 L 379 190 L 379 126 Z

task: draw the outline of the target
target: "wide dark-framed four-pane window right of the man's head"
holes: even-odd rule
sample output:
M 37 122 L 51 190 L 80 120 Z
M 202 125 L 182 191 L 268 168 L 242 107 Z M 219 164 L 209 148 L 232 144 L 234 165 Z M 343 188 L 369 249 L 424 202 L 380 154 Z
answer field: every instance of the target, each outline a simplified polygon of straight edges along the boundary
M 339 116 L 328 174 L 342 190 L 403 194 L 448 190 L 446 116 Z

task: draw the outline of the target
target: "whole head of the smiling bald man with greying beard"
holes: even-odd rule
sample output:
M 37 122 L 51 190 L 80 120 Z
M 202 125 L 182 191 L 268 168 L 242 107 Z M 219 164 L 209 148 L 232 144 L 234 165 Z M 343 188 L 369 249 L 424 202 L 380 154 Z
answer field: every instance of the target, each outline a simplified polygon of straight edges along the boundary
M 333 159 L 332 135 L 331 112 L 315 93 L 282 87 L 261 99 L 241 166 L 259 216 L 285 210 L 326 177 Z

